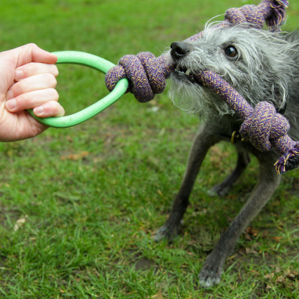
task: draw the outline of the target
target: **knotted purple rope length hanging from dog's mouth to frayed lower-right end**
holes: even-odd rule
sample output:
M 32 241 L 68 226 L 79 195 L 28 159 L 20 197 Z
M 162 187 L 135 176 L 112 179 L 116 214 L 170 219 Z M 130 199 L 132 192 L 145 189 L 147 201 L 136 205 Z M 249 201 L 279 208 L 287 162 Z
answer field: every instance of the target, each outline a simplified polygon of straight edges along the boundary
M 271 103 L 260 102 L 253 109 L 234 88 L 213 71 L 203 71 L 194 76 L 237 112 L 243 121 L 239 130 L 242 138 L 250 141 L 262 152 L 269 151 L 272 147 L 277 150 L 282 156 L 275 164 L 277 173 L 294 168 L 292 165 L 299 159 L 299 142 L 293 141 L 287 135 L 290 129 L 289 122 L 284 116 L 276 113 Z M 296 165 L 298 166 L 298 162 Z

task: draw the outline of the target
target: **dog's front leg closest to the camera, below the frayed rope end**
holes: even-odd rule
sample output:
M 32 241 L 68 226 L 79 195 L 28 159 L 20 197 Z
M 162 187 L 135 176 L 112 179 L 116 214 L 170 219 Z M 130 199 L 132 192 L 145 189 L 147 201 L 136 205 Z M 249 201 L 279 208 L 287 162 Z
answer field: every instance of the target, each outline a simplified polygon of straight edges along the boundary
M 238 216 L 231 223 L 227 231 L 220 237 L 213 251 L 208 255 L 199 273 L 199 284 L 202 287 L 210 287 L 220 282 L 222 268 L 226 257 L 230 254 L 240 234 L 247 227 L 249 222 L 263 208 L 276 190 L 280 176 L 275 173 L 273 164 L 275 157 L 271 154 L 261 154 L 259 181 L 252 191 L 248 201 Z

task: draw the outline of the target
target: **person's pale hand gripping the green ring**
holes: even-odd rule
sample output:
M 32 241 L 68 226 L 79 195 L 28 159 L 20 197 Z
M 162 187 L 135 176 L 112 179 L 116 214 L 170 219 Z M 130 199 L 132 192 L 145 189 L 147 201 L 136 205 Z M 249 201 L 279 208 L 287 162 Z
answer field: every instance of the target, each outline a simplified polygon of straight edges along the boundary
M 32 138 L 47 126 L 32 118 L 63 116 L 55 87 L 57 56 L 35 44 L 0 52 L 0 141 Z

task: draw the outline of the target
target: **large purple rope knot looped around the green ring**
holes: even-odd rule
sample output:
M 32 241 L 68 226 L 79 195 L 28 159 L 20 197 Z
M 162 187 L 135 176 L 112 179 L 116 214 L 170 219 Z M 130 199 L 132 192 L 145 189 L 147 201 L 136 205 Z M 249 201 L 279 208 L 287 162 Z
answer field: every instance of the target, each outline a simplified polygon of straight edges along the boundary
M 150 52 L 123 56 L 118 65 L 106 73 L 105 83 L 108 90 L 112 91 L 122 78 L 128 78 L 128 91 L 132 92 L 139 102 L 152 100 L 166 85 L 161 63 Z

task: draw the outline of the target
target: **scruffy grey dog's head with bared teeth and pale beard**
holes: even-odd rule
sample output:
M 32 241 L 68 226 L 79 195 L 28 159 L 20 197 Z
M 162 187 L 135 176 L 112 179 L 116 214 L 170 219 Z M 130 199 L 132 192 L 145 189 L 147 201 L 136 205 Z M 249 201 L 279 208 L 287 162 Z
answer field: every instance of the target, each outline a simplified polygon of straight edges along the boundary
M 297 42 L 298 44 L 298 42 Z M 181 109 L 201 115 L 233 115 L 234 111 L 197 79 L 196 73 L 219 74 L 252 106 L 266 100 L 283 107 L 292 78 L 294 43 L 275 33 L 245 25 L 207 26 L 194 42 L 173 42 L 170 97 Z M 298 48 L 298 47 L 297 47 Z

